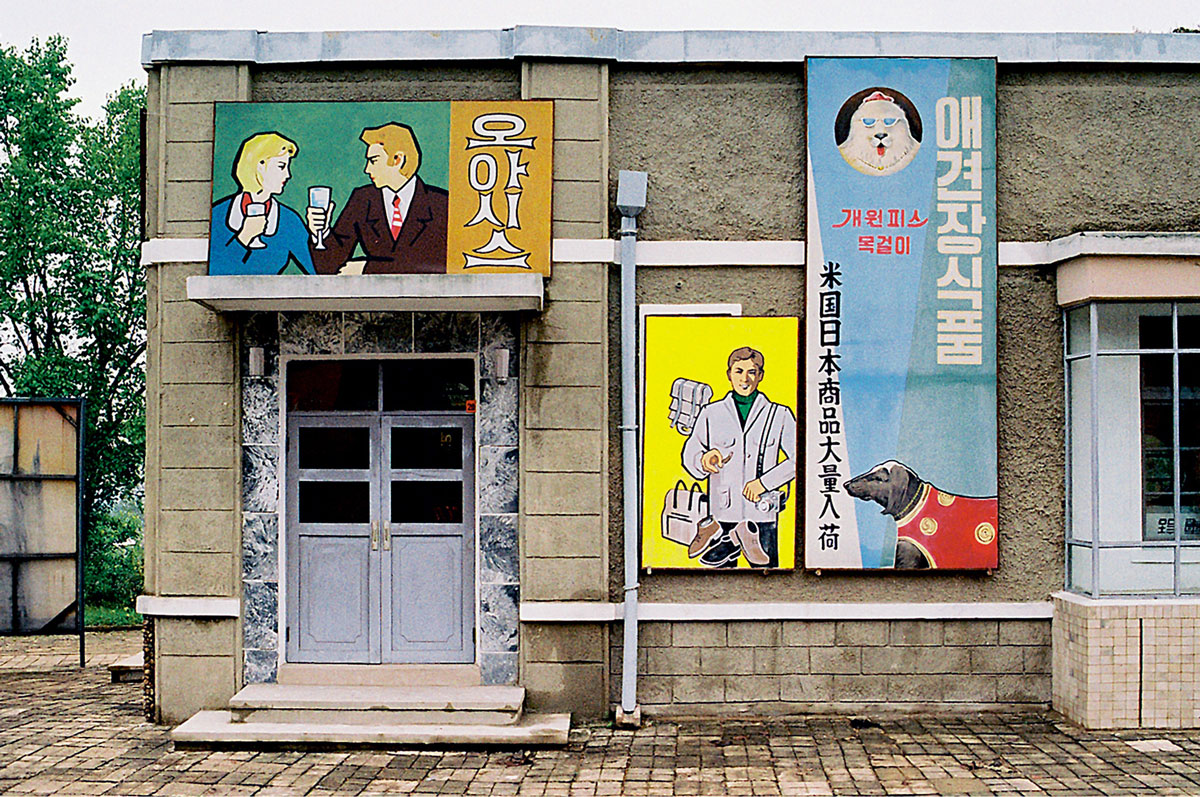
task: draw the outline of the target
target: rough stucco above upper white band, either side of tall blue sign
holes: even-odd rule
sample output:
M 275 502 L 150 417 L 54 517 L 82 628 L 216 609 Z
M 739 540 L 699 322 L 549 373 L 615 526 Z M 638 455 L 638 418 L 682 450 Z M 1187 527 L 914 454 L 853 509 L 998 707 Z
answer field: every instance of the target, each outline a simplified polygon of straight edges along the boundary
M 1001 66 L 1001 240 L 1200 227 L 1182 168 L 1195 68 Z M 804 238 L 804 77 L 764 70 L 613 67 L 611 180 L 650 174 L 642 238 Z M 1130 168 L 1135 163 L 1136 168 Z

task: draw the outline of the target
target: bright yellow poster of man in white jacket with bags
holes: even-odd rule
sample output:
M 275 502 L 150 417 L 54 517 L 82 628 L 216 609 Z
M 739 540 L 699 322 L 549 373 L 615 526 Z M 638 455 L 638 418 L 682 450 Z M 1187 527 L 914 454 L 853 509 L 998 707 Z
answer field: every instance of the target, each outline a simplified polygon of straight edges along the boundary
M 799 319 L 649 316 L 642 567 L 796 567 Z

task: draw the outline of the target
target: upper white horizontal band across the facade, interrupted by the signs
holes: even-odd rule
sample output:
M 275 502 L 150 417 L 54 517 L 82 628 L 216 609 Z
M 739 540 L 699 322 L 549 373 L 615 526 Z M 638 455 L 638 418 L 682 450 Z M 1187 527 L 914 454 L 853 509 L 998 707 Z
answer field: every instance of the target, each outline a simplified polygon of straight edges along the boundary
M 208 253 L 206 238 L 155 238 L 142 245 L 142 264 L 204 263 Z M 1049 241 L 1000 244 L 1002 266 L 1054 265 L 1087 256 L 1200 257 L 1200 233 L 1074 233 Z M 556 263 L 616 263 L 617 241 L 558 238 L 552 257 Z M 804 241 L 638 241 L 637 264 L 804 265 Z

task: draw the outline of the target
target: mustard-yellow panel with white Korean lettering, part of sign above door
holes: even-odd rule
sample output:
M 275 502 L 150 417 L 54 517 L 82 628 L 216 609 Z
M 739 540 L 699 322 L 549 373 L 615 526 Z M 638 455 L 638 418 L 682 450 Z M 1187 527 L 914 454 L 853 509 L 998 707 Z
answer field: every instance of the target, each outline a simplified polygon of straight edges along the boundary
M 554 103 L 450 109 L 446 274 L 550 276 Z

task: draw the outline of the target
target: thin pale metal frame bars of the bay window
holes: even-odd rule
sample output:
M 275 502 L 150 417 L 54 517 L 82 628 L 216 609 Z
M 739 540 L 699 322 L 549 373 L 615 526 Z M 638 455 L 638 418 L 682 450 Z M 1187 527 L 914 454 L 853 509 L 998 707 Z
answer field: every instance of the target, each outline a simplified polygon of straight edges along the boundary
M 1087 347 L 1086 350 L 1080 350 L 1072 353 L 1070 349 L 1070 313 L 1078 311 L 1080 307 L 1070 307 L 1063 310 L 1063 382 L 1064 382 L 1064 398 L 1066 398 L 1066 558 L 1063 563 L 1063 583 L 1069 592 L 1075 592 L 1079 594 L 1086 594 L 1091 598 L 1180 598 L 1184 595 L 1200 594 L 1200 588 L 1194 591 L 1184 592 L 1180 586 L 1180 575 L 1182 568 L 1182 552 L 1184 549 L 1193 549 L 1200 552 L 1200 540 L 1192 543 L 1183 540 L 1183 523 L 1182 523 L 1182 511 L 1181 511 L 1181 497 L 1182 481 L 1181 481 L 1181 456 L 1180 456 L 1180 444 L 1181 444 L 1181 429 L 1180 429 L 1180 356 L 1184 354 L 1196 354 L 1200 355 L 1200 348 L 1180 348 L 1180 304 L 1178 301 L 1151 301 L 1145 304 L 1154 305 L 1169 305 L 1170 306 L 1170 319 L 1171 319 L 1171 346 L 1170 348 L 1108 348 L 1102 349 L 1099 344 L 1099 304 L 1098 301 L 1091 301 L 1082 305 L 1087 308 Z M 1117 304 L 1117 302 L 1105 302 L 1105 304 Z M 1120 304 L 1132 304 L 1132 302 L 1120 302 Z M 1133 302 L 1144 304 L 1144 302 Z M 1189 302 L 1183 302 L 1189 304 Z M 1102 356 L 1141 356 L 1146 354 L 1152 355 L 1170 355 L 1171 356 L 1171 456 L 1172 456 L 1172 514 L 1175 522 L 1175 539 L 1174 540 L 1139 540 L 1139 541 L 1102 541 L 1100 540 L 1100 454 L 1099 454 L 1099 436 L 1100 436 L 1100 420 L 1099 420 L 1099 379 L 1100 379 L 1100 358 Z M 1088 402 L 1091 408 L 1091 427 L 1088 430 L 1088 450 L 1091 454 L 1091 493 L 1088 496 L 1091 503 L 1091 539 L 1078 539 L 1074 535 L 1074 516 L 1072 511 L 1073 503 L 1073 479 L 1074 473 L 1072 469 L 1072 460 L 1074 454 L 1075 443 L 1072 441 L 1072 364 L 1087 360 L 1088 368 Z M 1144 489 L 1144 485 L 1140 485 Z M 1091 589 L 1080 589 L 1072 583 L 1072 549 L 1090 549 L 1091 550 Z M 1154 593 L 1154 592 L 1134 592 L 1134 591 L 1121 591 L 1105 593 L 1100 588 L 1100 551 L 1114 550 L 1114 549 L 1170 549 L 1172 551 L 1172 571 L 1171 571 L 1171 592 L 1170 593 Z M 1200 565 L 1200 563 L 1198 563 Z

